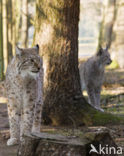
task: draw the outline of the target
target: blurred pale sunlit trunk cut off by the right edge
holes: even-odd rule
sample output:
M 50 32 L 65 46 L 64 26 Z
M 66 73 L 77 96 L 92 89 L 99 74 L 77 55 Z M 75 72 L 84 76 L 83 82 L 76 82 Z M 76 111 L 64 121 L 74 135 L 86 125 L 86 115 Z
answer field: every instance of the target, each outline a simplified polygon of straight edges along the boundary
M 117 15 L 113 28 L 114 40 L 112 42 L 111 51 L 114 51 L 114 58 L 118 62 L 120 68 L 124 69 L 124 1 L 117 1 L 117 6 Z

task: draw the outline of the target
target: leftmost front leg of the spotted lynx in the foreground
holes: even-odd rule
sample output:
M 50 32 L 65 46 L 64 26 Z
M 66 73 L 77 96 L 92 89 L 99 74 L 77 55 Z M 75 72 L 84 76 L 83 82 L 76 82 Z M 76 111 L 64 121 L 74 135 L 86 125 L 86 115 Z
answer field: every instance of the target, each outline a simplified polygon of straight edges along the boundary
M 8 101 L 8 116 L 10 124 L 10 139 L 7 141 L 7 145 L 15 145 L 19 142 L 20 136 L 20 112 L 17 108 L 17 103 L 14 98 Z

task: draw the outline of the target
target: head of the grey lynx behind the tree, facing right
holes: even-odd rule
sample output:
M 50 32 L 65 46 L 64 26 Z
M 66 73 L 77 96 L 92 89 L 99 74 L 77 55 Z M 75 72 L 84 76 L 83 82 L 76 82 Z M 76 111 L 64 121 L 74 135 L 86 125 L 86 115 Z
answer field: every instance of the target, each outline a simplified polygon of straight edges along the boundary
M 110 65 L 112 63 L 111 56 L 108 52 L 108 46 L 106 46 L 105 49 L 101 47 L 97 52 L 97 57 L 103 65 Z

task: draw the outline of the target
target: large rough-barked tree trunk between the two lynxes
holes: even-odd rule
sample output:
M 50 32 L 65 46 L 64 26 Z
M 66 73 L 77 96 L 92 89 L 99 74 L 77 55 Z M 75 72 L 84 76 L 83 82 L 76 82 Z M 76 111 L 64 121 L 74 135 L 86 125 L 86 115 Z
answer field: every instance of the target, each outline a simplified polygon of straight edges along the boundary
M 44 112 L 54 125 L 70 123 L 77 98 L 82 96 L 78 71 L 79 0 L 37 0 L 36 5 L 35 38 L 45 67 Z

